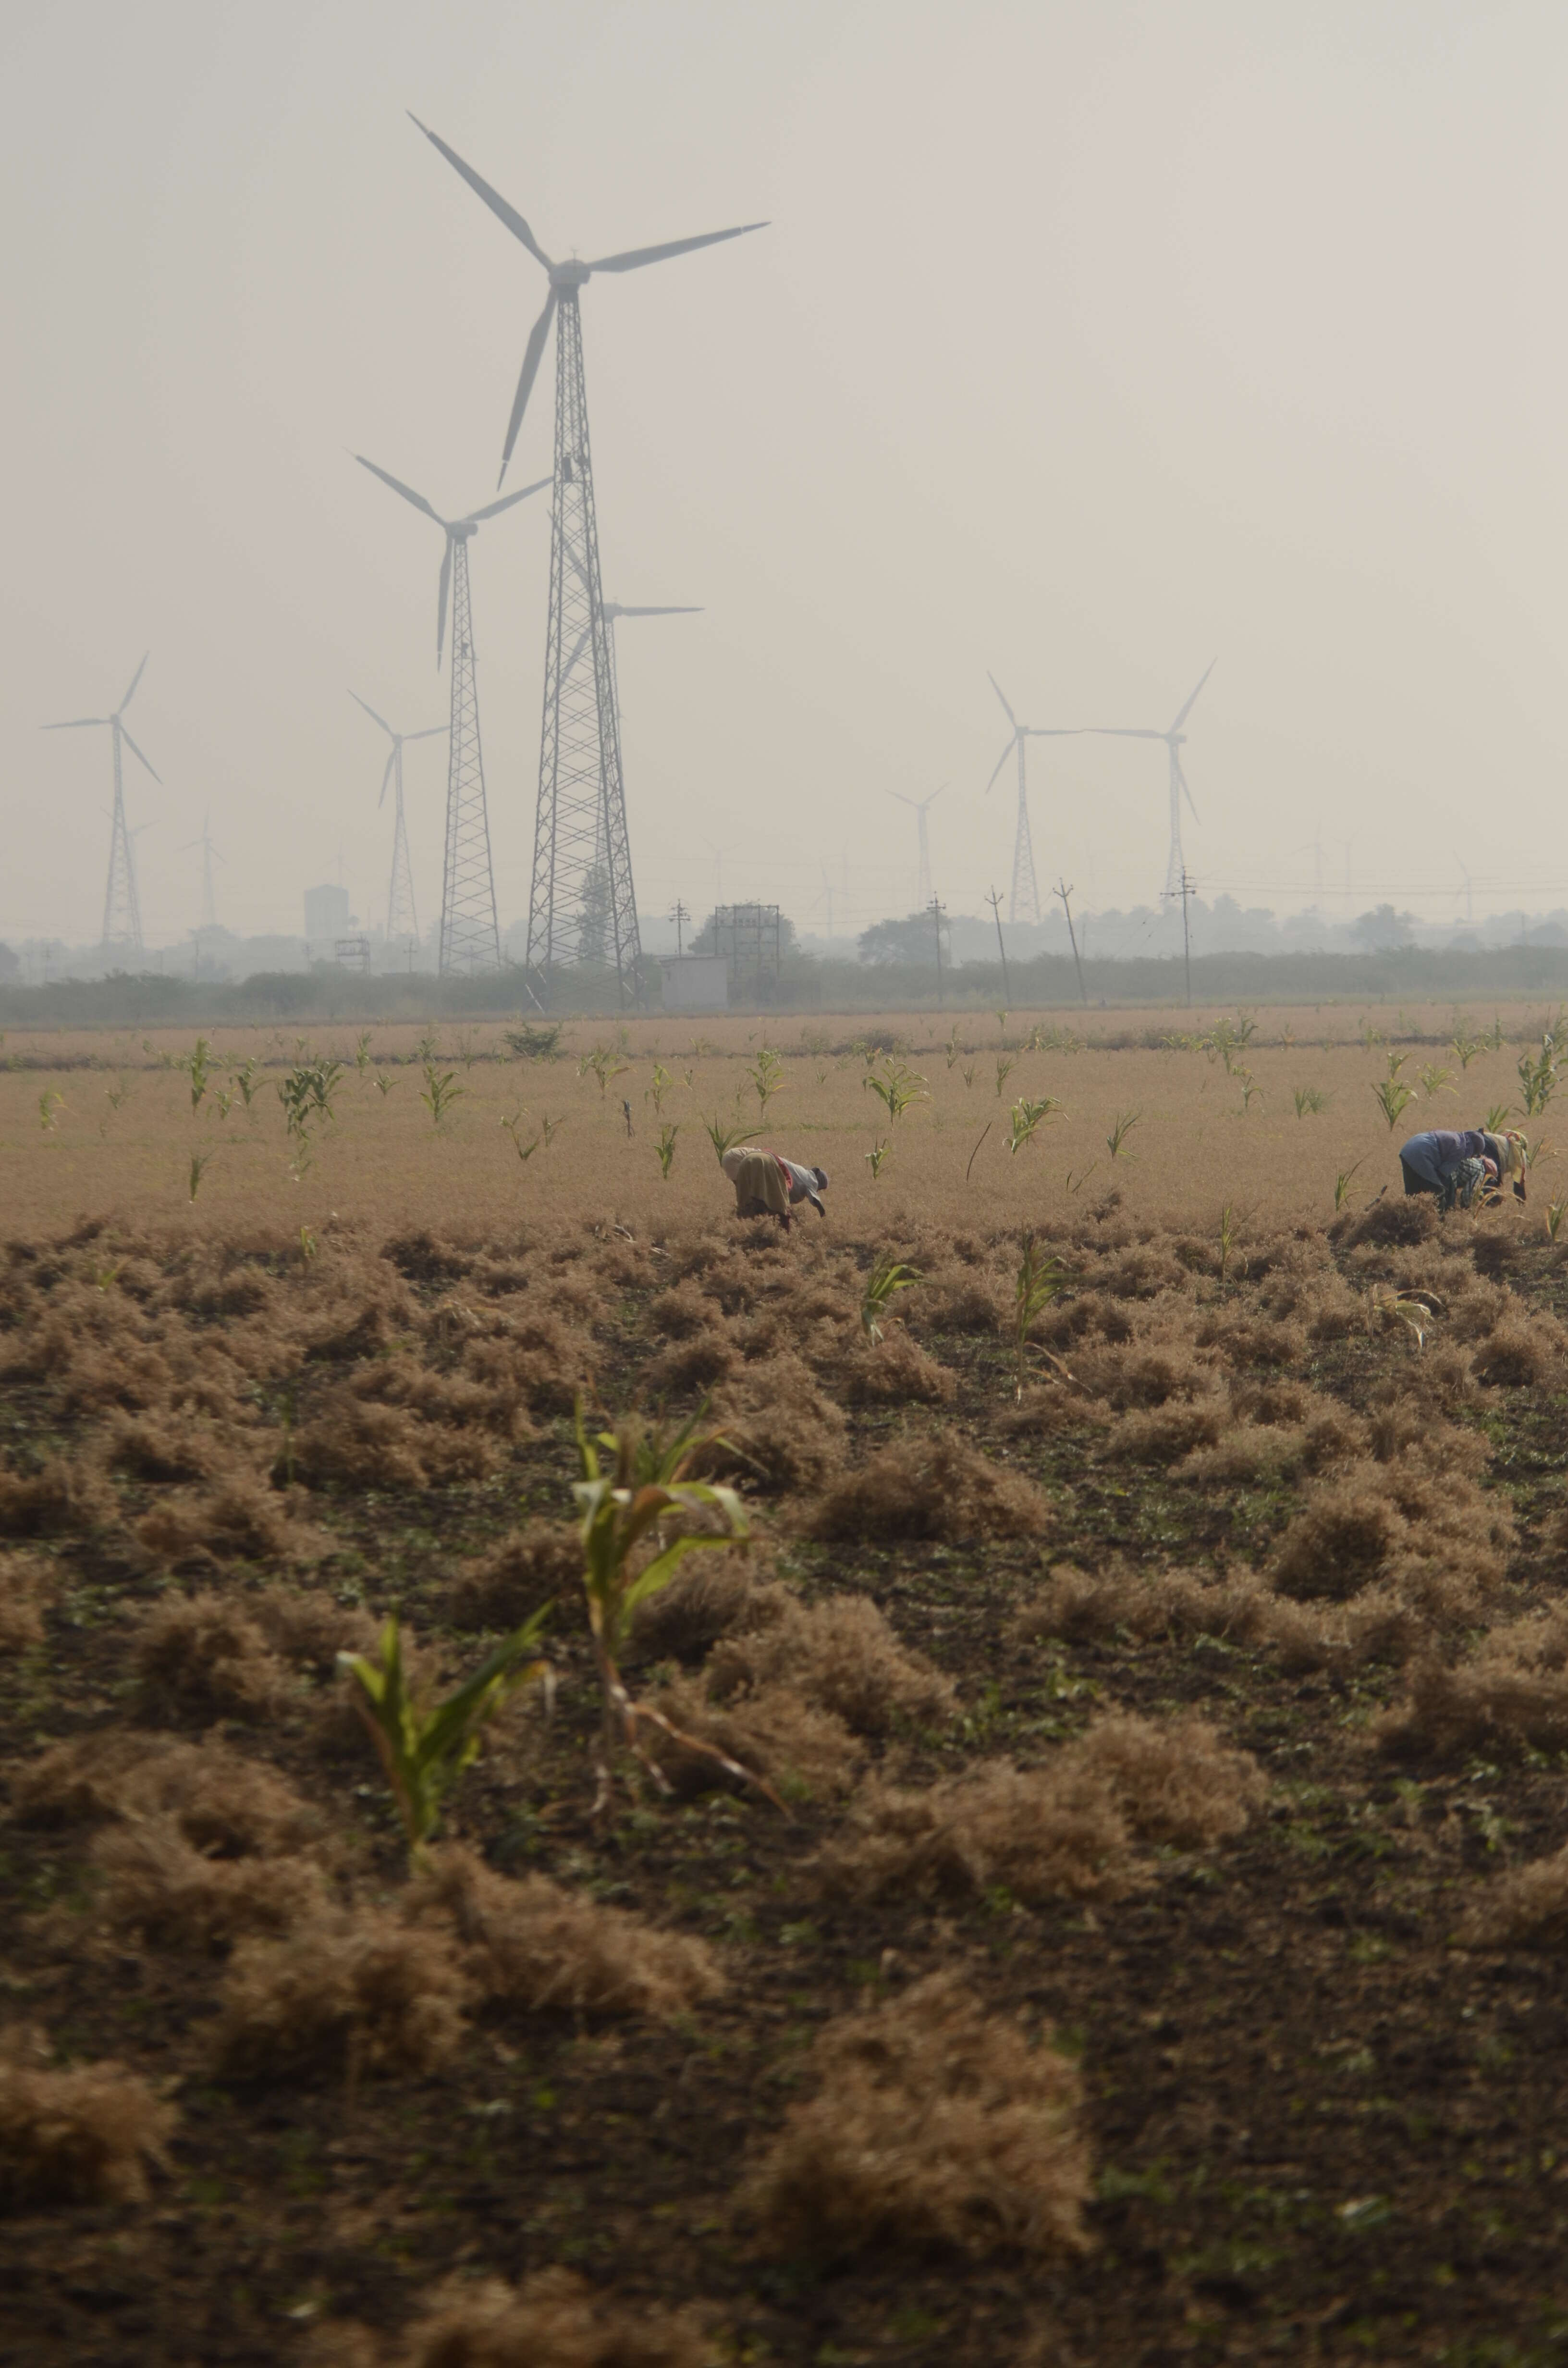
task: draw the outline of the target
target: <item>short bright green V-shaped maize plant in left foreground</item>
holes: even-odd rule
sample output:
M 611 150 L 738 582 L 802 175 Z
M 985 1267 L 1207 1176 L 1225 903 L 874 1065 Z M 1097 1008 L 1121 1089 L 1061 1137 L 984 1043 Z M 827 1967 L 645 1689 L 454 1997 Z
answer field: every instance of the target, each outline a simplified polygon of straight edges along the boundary
M 431 1710 L 422 1710 L 407 1691 L 396 1617 L 381 1629 L 377 1660 L 339 1653 L 339 1669 L 358 1686 L 353 1707 L 386 1769 L 410 1859 L 419 1859 L 436 1830 L 443 1795 L 478 1757 L 488 1719 L 519 1686 L 550 1684 L 550 1662 L 535 1650 L 547 1617 L 550 1606 L 497 1643 L 474 1677 Z

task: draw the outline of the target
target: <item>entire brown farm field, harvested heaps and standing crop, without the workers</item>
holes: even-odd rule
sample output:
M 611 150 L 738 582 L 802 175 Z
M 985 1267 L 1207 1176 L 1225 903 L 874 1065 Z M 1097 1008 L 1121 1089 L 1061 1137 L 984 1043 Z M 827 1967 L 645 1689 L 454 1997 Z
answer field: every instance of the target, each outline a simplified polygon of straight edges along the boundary
M 1559 1021 L 696 1025 L 0 1044 L 5 2359 L 1568 2356 Z

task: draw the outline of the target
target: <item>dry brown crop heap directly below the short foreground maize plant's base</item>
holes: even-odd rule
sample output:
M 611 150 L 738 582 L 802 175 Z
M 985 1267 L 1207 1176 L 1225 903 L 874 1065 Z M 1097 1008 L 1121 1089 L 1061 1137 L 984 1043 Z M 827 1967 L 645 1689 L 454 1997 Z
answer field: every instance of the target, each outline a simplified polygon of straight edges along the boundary
M 661 1932 L 547 1875 L 514 1883 L 455 1842 L 429 1854 L 407 1913 L 448 1923 L 478 1996 L 528 2015 L 670 2018 L 725 1987 L 701 1939 Z

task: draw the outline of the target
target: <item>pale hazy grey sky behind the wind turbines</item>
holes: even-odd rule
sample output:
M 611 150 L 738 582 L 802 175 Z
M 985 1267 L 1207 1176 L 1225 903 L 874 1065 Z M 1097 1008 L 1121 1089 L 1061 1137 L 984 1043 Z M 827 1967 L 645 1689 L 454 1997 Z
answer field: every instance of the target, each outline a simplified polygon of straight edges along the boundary
M 554 253 L 767 215 L 583 296 L 632 860 L 865 926 L 1007 893 L 1007 722 L 1189 732 L 1206 893 L 1457 914 L 1568 900 L 1551 0 L 9 0 L 0 194 L 12 455 L 0 935 L 92 938 L 104 713 L 149 942 L 384 914 L 384 748 L 436 675 L 441 535 L 495 488 Z M 554 348 L 509 483 L 550 466 Z M 526 907 L 547 495 L 474 545 L 502 921 Z M 436 753 L 431 753 L 436 751 Z M 422 919 L 441 744 L 407 753 Z M 1037 862 L 1158 895 L 1165 758 L 1033 748 Z M 1345 857 L 1345 843 L 1350 855 Z

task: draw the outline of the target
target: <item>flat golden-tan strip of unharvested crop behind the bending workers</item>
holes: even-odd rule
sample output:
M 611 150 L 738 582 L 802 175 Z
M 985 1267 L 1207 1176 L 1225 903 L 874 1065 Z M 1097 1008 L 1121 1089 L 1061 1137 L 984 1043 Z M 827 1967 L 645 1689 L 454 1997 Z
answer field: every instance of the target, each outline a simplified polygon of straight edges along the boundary
M 1215 1025 L 1251 1025 L 1251 1042 L 1199 1049 Z M 1182 1014 L 1180 1025 L 1170 1014 L 1118 1014 L 1082 1030 L 990 1016 L 938 1028 L 910 1014 L 805 1030 L 573 1023 L 557 1058 L 519 1058 L 507 1032 L 488 1025 L 28 1035 L 0 1054 L 14 1063 L 0 1068 L 0 1205 L 14 1227 L 116 1212 L 194 1236 L 296 1234 L 334 1220 L 493 1231 L 561 1210 L 658 1231 L 725 1208 L 703 1127 L 713 1120 L 760 1130 L 784 1156 L 827 1167 L 834 1222 L 846 1229 L 898 1231 L 926 1217 L 1016 1227 L 1108 1184 L 1130 1210 L 1168 1222 L 1217 1220 L 1225 1201 L 1260 1217 L 1324 1217 L 1343 1172 L 1352 1170 L 1352 1198 L 1397 1186 L 1397 1144 L 1416 1127 L 1471 1127 L 1518 1103 L 1521 1047 L 1540 1042 L 1544 1016 L 1518 1006 L 1497 1021 L 1487 1014 L 1502 1047 L 1487 1040 L 1466 1068 L 1450 1049 L 1447 1009 L 1395 1021 L 1352 1009 L 1253 1021 Z M 1369 1032 L 1383 1042 L 1369 1044 Z M 1471 1035 L 1480 1037 L 1478 1021 Z M 211 1077 L 192 1111 L 192 1077 L 178 1063 L 197 1042 L 211 1047 Z M 782 1056 L 765 1118 L 753 1080 L 763 1047 Z M 898 1051 L 879 1061 L 876 1047 Z M 602 1054 L 604 1087 L 580 1073 L 585 1054 Z M 1393 1130 L 1374 1099 L 1390 1054 L 1402 1056 L 1400 1082 L 1414 1094 Z M 862 1082 L 867 1070 L 886 1075 L 888 1058 L 928 1096 L 898 1120 Z M 332 1118 L 313 1118 L 301 1163 L 277 1089 L 306 1061 L 334 1061 L 341 1073 Z M 234 1085 L 244 1063 L 253 1066 L 249 1106 Z M 656 1082 L 656 1066 L 668 1082 Z M 1445 1073 L 1440 1082 L 1433 1070 Z M 431 1073 L 452 1089 L 441 1125 Z M 1298 1118 L 1298 1092 L 1324 1106 Z M 1009 1113 L 1021 1096 L 1054 1096 L 1061 1108 L 1014 1156 Z M 1113 1156 L 1118 1118 L 1135 1125 Z M 666 1127 L 677 1130 L 668 1179 Z M 538 1148 L 521 1160 L 531 1141 Z M 886 1160 L 874 1179 L 867 1153 L 876 1144 Z M 1542 1182 L 1551 1156 L 1547 1146 Z M 204 1163 L 194 1201 L 192 1158 Z

